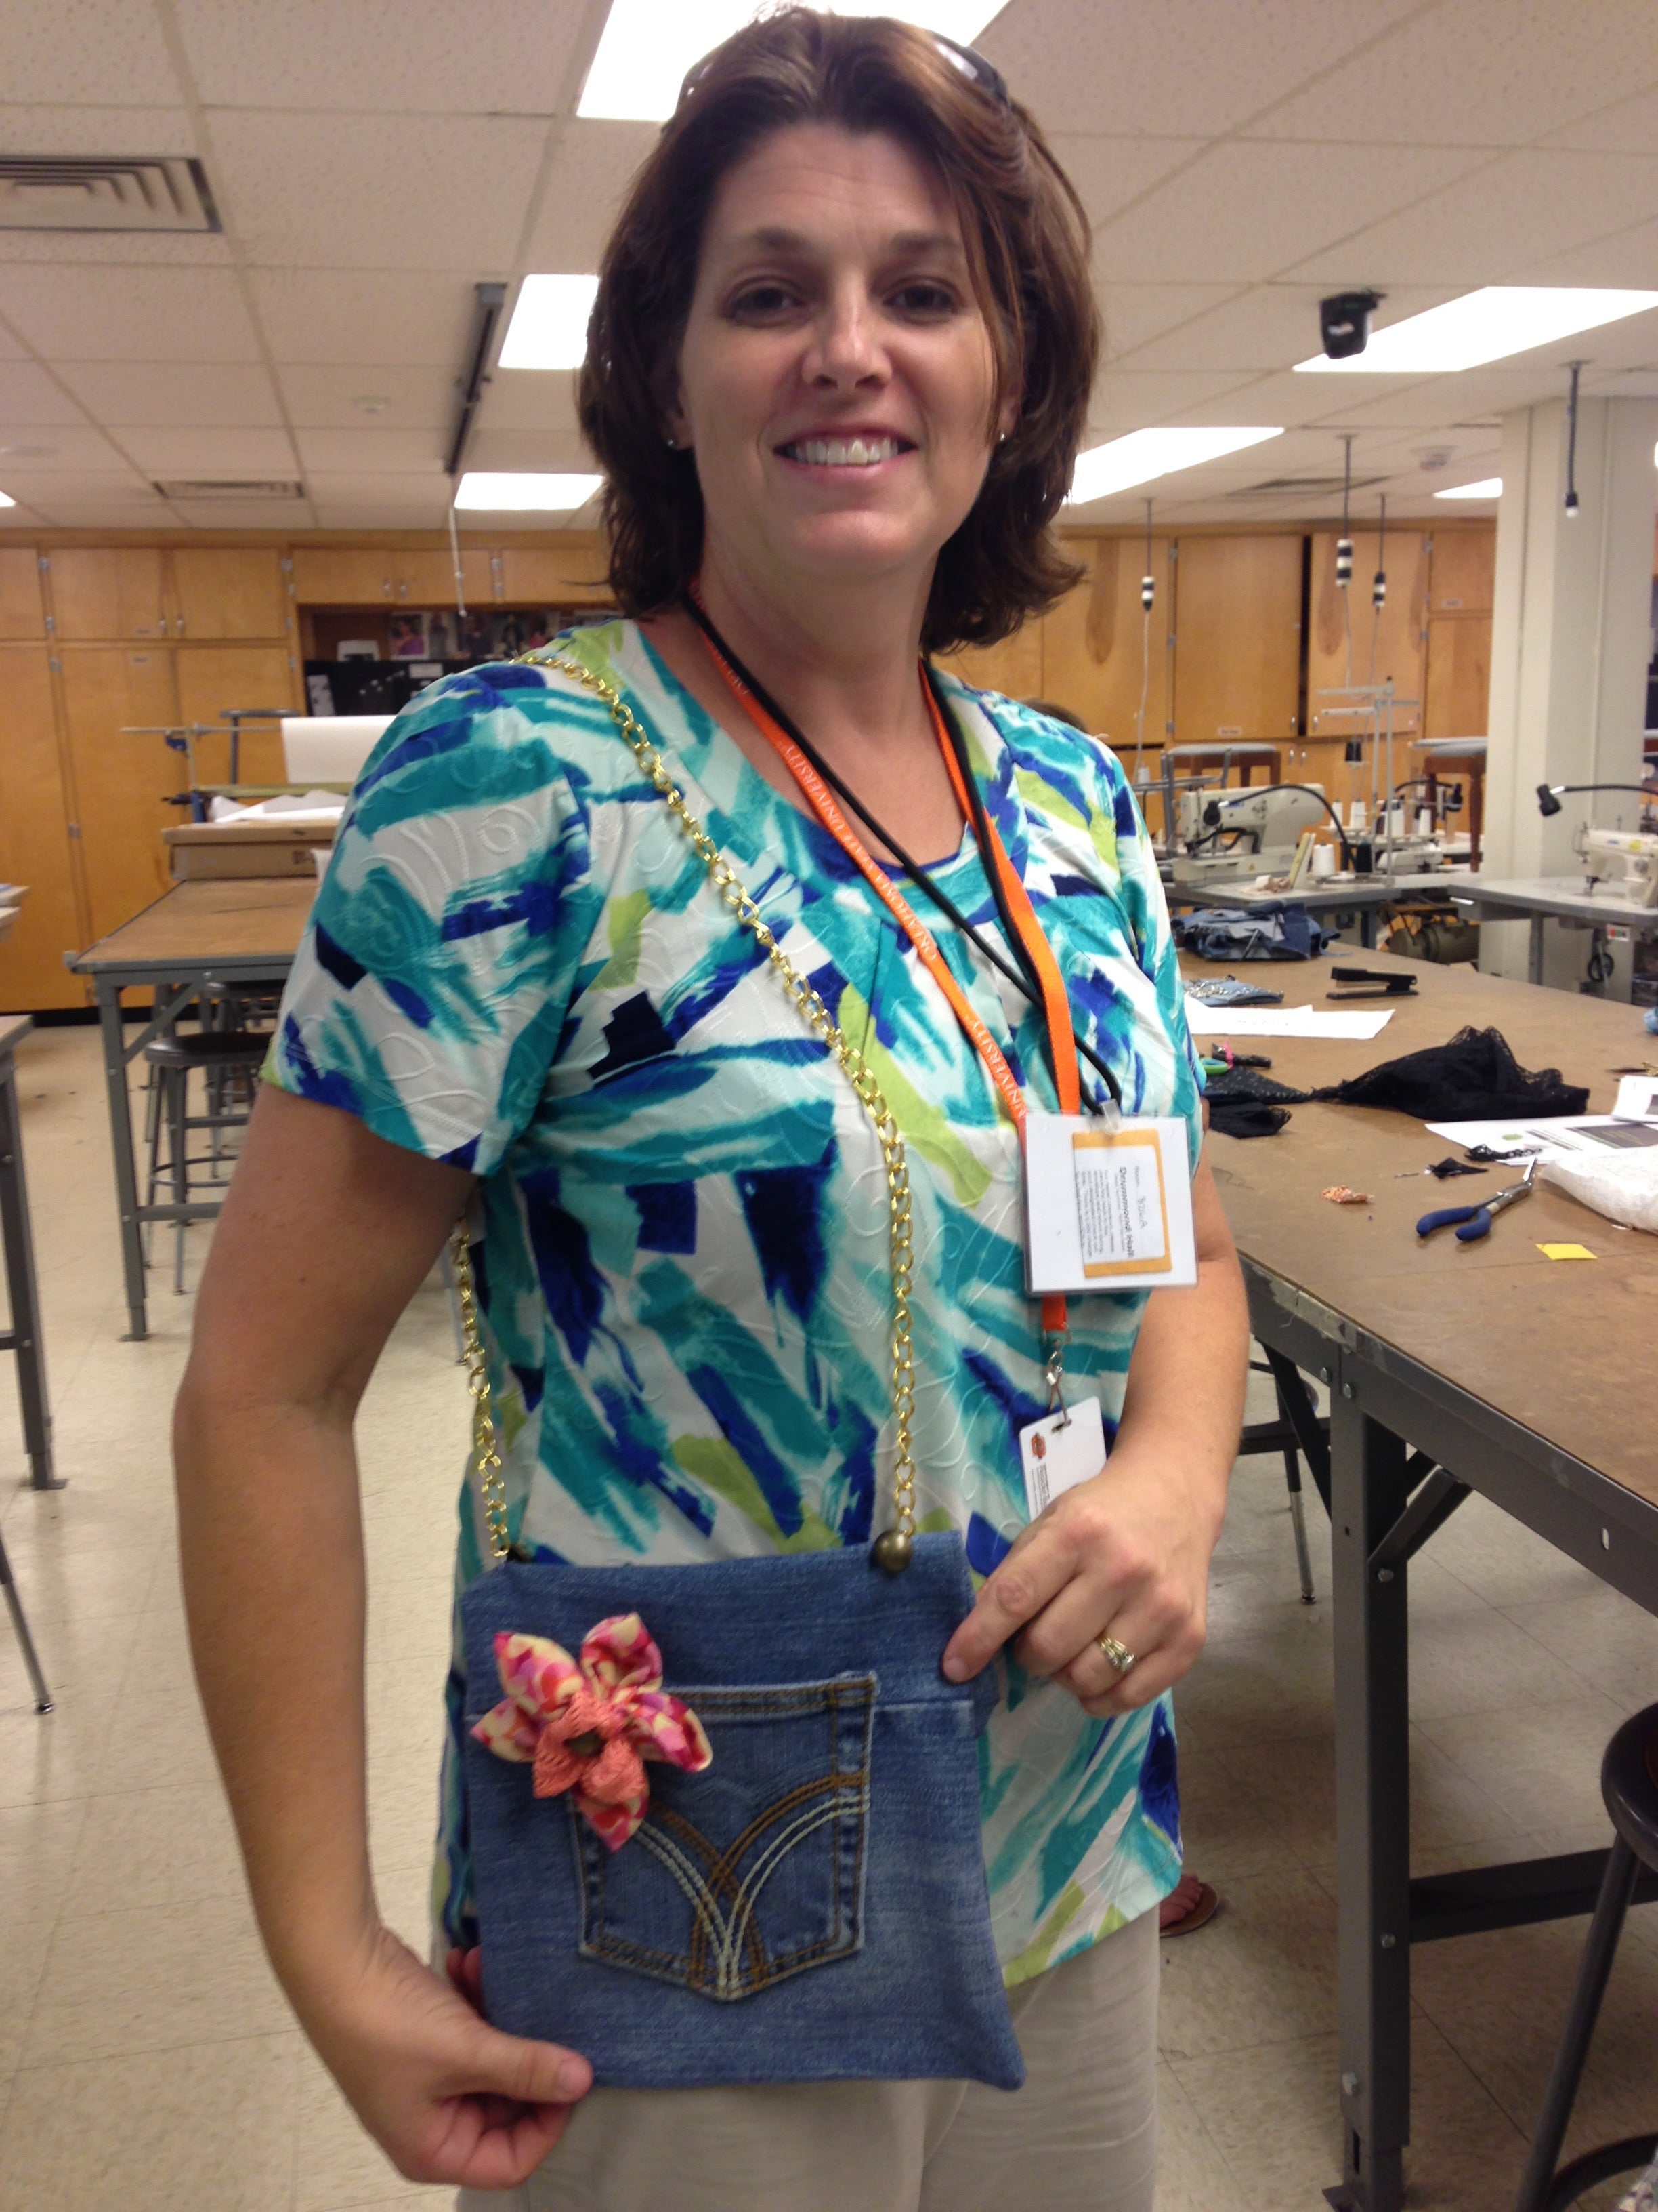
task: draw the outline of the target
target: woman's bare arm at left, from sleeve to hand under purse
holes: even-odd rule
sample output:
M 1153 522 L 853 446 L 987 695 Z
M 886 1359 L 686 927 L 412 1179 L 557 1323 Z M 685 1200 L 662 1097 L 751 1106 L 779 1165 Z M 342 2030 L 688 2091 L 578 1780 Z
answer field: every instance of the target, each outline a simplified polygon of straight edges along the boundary
M 402 2174 L 500 2190 L 546 2157 L 590 2070 L 489 2028 L 380 1922 L 351 1442 L 469 1186 L 265 1086 L 201 1279 L 175 1447 L 190 1646 L 276 1975 Z

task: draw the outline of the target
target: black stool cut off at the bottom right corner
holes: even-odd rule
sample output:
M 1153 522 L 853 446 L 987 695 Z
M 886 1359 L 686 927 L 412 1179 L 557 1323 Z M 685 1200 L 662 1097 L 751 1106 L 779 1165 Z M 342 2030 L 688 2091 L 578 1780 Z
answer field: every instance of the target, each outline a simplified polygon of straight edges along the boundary
M 1585 2150 L 1581 2159 L 1556 2170 L 1636 1880 L 1643 1867 L 1658 1871 L 1658 1705 L 1647 1705 L 1625 1721 L 1607 1743 L 1601 1761 L 1601 1796 L 1607 1801 L 1616 1836 L 1514 2212 L 1565 2212 L 1598 2181 L 1638 2172 L 1658 2152 L 1658 2135 L 1631 2135 L 1623 2143 Z

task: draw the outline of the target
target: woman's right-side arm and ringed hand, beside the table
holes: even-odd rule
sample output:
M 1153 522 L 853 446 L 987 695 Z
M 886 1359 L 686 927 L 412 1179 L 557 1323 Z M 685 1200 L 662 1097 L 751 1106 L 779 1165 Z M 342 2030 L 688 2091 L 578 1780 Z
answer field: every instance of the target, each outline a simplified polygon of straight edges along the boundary
M 1198 1281 L 1154 1290 L 1127 1369 L 1110 1464 L 1019 1533 L 944 1652 L 951 1681 L 1008 1641 L 1088 1712 L 1130 1712 L 1203 1650 L 1209 1553 L 1238 1455 L 1249 1307 L 1207 1161 L 1192 1179 Z M 1136 1655 L 1119 1681 L 1094 1637 Z

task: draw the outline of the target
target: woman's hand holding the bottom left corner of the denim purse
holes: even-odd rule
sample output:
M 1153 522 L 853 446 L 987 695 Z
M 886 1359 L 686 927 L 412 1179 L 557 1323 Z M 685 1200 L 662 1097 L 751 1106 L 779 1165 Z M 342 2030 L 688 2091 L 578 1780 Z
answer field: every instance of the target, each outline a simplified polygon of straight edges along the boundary
M 440 1980 L 378 1929 L 349 1984 L 301 2006 L 356 2117 L 409 2181 L 517 2188 L 564 2135 L 592 2068 L 557 2044 L 502 2035 L 478 2013 L 478 1953 Z

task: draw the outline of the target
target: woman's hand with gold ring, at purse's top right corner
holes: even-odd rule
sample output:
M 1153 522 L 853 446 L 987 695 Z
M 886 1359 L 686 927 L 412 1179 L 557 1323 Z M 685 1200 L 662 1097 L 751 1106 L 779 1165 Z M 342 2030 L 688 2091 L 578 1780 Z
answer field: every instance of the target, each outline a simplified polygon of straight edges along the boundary
M 968 1681 L 1004 1644 L 1030 1674 L 1063 1683 L 1083 1712 L 1150 1705 L 1203 1650 L 1214 1484 L 1141 1444 L 1119 1444 L 1090 1482 L 1063 1491 L 982 1586 L 944 1650 L 951 1681 Z M 1134 1652 L 1119 1674 L 1096 1637 Z

